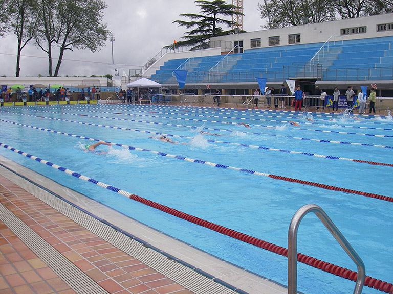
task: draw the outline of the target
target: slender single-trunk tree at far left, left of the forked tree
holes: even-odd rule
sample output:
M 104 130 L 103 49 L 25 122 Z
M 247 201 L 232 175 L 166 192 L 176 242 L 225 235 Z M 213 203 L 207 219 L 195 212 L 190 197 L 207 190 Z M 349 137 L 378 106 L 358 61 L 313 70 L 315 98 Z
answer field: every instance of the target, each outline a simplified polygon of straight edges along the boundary
M 8 2 L 6 11 L 10 21 L 10 31 L 13 32 L 18 40 L 16 72 L 20 74 L 20 54 L 23 48 L 30 42 L 36 29 L 36 16 L 34 14 L 34 0 L 11 0 Z

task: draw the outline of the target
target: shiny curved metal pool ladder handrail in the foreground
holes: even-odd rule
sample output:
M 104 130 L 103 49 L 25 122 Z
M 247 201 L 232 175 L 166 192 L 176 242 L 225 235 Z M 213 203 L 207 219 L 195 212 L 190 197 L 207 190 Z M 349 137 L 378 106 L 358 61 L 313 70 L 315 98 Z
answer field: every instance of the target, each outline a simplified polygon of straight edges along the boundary
M 322 224 L 329 230 L 332 236 L 337 240 L 342 249 L 351 257 L 358 267 L 358 277 L 356 279 L 356 285 L 354 294 L 361 294 L 366 271 L 364 263 L 359 255 L 352 248 L 351 244 L 341 234 L 339 229 L 333 224 L 329 216 L 315 204 L 307 204 L 302 206 L 296 211 L 292 217 L 291 223 L 288 230 L 288 294 L 296 294 L 297 290 L 297 231 L 303 217 L 314 212 L 316 216 L 321 220 Z

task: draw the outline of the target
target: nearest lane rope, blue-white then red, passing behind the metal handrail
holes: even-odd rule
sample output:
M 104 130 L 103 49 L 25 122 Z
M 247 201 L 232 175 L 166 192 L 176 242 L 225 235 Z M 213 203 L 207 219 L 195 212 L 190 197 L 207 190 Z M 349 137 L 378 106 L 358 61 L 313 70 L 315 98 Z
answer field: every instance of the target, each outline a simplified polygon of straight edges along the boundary
M 23 152 L 23 151 L 17 150 L 15 148 L 12 148 L 11 146 L 8 146 L 8 145 L 3 144 L 1 142 L 0 142 L 0 146 L 6 148 L 8 150 L 11 150 L 11 151 L 13 151 L 15 153 L 18 153 L 20 155 L 23 155 L 23 156 L 25 156 L 27 158 L 30 158 L 31 160 L 35 160 L 35 161 L 37 161 L 39 163 L 48 165 L 48 166 L 50 166 L 50 167 L 52 167 L 54 169 L 63 171 L 63 173 L 68 174 L 70 176 L 73 176 L 75 178 L 78 178 L 78 179 L 81 179 L 81 180 L 93 183 L 93 184 L 95 184 L 97 186 L 103 187 L 103 188 L 105 188 L 107 190 L 110 190 L 110 191 L 113 191 L 113 192 L 118 193 L 120 195 L 123 195 L 123 196 L 125 196 L 125 197 L 127 197 L 127 198 L 129 198 L 131 200 L 137 201 L 137 202 L 145 204 L 145 205 L 147 205 L 149 207 L 152 207 L 152 208 L 158 209 L 160 211 L 163 211 L 163 212 L 165 212 L 167 214 L 170 214 L 170 215 L 176 216 L 178 218 L 184 219 L 187 222 L 190 222 L 190 223 L 202 226 L 204 228 L 207 228 L 207 229 L 210 229 L 212 231 L 218 232 L 220 234 L 223 234 L 223 235 L 229 236 L 231 238 L 240 240 L 242 242 L 252 244 L 253 246 L 265 249 L 265 250 L 270 251 L 272 253 L 276 253 L 276 254 L 279 254 L 281 256 L 288 257 L 288 249 L 286 249 L 285 247 L 281 247 L 281 246 L 275 245 L 273 243 L 270 243 L 270 242 L 267 242 L 267 241 L 264 241 L 264 240 L 252 237 L 250 235 L 246 235 L 244 233 L 241 233 L 241 232 L 238 232 L 238 231 L 226 228 L 224 226 L 214 224 L 214 223 L 209 222 L 208 220 L 205 220 L 203 218 L 199 218 L 197 216 L 193 216 L 191 214 L 182 212 L 180 210 L 170 208 L 168 206 L 159 204 L 157 202 L 154 202 L 154 201 L 151 201 L 151 200 L 147 200 L 146 198 L 140 197 L 140 196 L 138 196 L 136 194 L 129 193 L 127 191 L 121 190 L 121 189 L 119 189 L 117 187 L 105 184 L 103 182 L 99 182 L 99 181 L 97 181 L 95 179 L 92 179 L 92 178 L 86 177 L 86 176 L 84 176 L 84 175 L 82 175 L 80 173 L 77 173 L 76 171 L 64 168 L 62 166 L 56 165 L 56 164 L 54 164 L 52 162 L 49 162 L 47 160 L 41 159 L 39 157 L 33 156 L 33 155 L 28 154 L 28 153 Z M 308 255 L 305 255 L 305 254 L 297 253 L 297 260 L 299 262 L 301 262 L 301 263 L 310 265 L 310 266 L 312 266 L 314 268 L 321 269 L 321 271 L 323 271 L 323 272 L 331 273 L 331 274 L 334 274 L 336 276 L 345 278 L 347 280 L 356 281 L 356 279 L 357 279 L 357 273 L 354 272 L 354 271 L 351 271 L 351 269 L 340 267 L 338 265 L 334 265 L 332 263 L 325 262 L 325 261 L 316 259 L 314 257 L 308 256 Z M 392 293 L 393 292 L 393 284 L 387 283 L 387 282 L 382 281 L 382 280 L 377 280 L 377 279 L 369 277 L 369 276 L 366 277 L 366 279 L 364 281 L 364 285 L 368 286 L 370 288 L 375 288 L 375 289 L 377 289 L 379 291 L 384 291 L 386 293 Z

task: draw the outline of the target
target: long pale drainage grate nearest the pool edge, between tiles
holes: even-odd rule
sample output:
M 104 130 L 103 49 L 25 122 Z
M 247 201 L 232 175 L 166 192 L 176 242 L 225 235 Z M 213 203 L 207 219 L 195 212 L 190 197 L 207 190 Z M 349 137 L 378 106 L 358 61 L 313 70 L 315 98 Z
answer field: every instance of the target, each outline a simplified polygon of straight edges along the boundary
M 126 235 L 115 229 L 101 223 L 96 218 L 85 214 L 79 209 L 73 207 L 67 202 L 55 197 L 50 192 L 41 189 L 33 183 L 16 175 L 12 171 L 0 166 L 0 173 L 7 179 L 33 194 L 41 201 L 47 203 L 57 211 L 74 220 L 75 223 L 88 229 L 103 240 L 111 243 L 116 248 L 133 256 L 147 266 L 155 269 L 172 281 L 189 289 L 195 294 L 235 294 L 236 292 L 225 287 L 224 285 L 214 282 L 212 279 L 193 271 L 176 261 L 168 259 L 166 256 L 151 248 L 144 247 L 141 243 L 130 239 Z M 44 241 L 45 242 L 45 241 Z M 79 271 L 79 269 L 78 269 Z M 71 285 L 70 285 L 71 286 Z M 241 291 L 243 292 L 243 291 Z M 80 292 L 84 293 L 84 292 Z M 93 293 L 90 291 L 89 293 Z M 238 293 L 238 292 L 237 292 Z

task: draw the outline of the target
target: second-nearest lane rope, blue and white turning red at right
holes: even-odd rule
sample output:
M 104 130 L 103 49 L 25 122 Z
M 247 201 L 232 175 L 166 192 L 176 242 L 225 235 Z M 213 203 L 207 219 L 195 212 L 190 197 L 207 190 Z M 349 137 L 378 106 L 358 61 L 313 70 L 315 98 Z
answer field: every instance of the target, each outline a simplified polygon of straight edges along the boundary
M 88 124 L 88 125 L 90 125 L 90 124 Z M 97 142 L 102 141 L 102 140 L 93 139 L 93 138 L 89 138 L 89 137 L 73 135 L 73 134 L 69 134 L 69 133 L 63 133 L 63 132 L 58 132 L 58 131 L 54 131 L 54 130 L 50 130 L 50 129 L 38 128 L 38 127 L 34 127 L 34 126 L 29 126 L 29 128 L 38 129 L 38 130 L 47 131 L 47 132 L 56 133 L 56 134 L 62 134 L 62 135 L 66 135 L 66 136 L 76 137 L 76 138 L 81 138 L 81 139 L 86 139 L 86 140 L 91 140 L 91 141 L 97 141 Z M 107 126 L 107 128 L 111 128 L 111 127 Z M 112 129 L 116 129 L 116 128 L 112 127 Z M 127 145 L 123 145 L 123 144 L 119 144 L 119 143 L 115 143 L 115 142 L 108 142 L 108 141 L 102 141 L 102 142 L 111 143 L 112 145 L 116 145 L 121 148 L 129 149 L 129 150 L 150 152 L 150 153 L 154 153 L 156 155 L 160 155 L 163 157 L 176 158 L 179 160 L 184 160 L 184 161 L 188 161 L 188 162 L 192 162 L 192 163 L 200 163 L 200 164 L 204 164 L 204 165 L 208 165 L 208 166 L 212 166 L 212 167 L 217 167 L 217 168 L 228 168 L 228 169 L 232 169 L 232 170 L 236 170 L 236 171 L 242 171 L 244 173 L 248 173 L 251 175 L 268 177 L 268 178 L 275 179 L 275 180 L 282 180 L 282 181 L 286 181 L 286 182 L 292 182 L 292 183 L 298 183 L 298 184 L 307 185 L 307 186 L 318 187 L 318 188 L 322 188 L 322 189 L 326 189 L 326 190 L 334 190 L 334 191 L 339 191 L 339 192 L 345 192 L 348 194 L 361 195 L 364 197 L 375 198 L 375 199 L 379 199 L 379 200 L 383 200 L 383 201 L 387 201 L 387 202 L 393 202 L 393 197 L 384 196 L 384 195 L 380 195 L 380 194 L 368 193 L 368 192 L 352 190 L 352 189 L 345 189 L 345 188 L 341 188 L 341 187 L 325 185 L 325 184 L 310 182 L 310 181 L 303 181 L 303 180 L 289 178 L 289 177 L 282 177 L 282 176 L 277 176 L 277 175 L 268 174 L 268 173 L 261 173 L 260 171 L 255 171 L 255 170 L 251 170 L 251 169 L 247 169 L 247 168 L 233 167 L 230 165 L 213 163 L 213 162 L 200 160 L 200 159 L 188 158 L 188 157 L 184 157 L 182 155 L 172 155 L 172 154 L 168 154 L 168 153 L 164 153 L 164 152 L 159 152 L 159 151 L 154 151 L 154 150 L 149 150 L 149 149 L 144 149 L 144 148 L 138 148 L 138 147 L 134 147 L 134 146 L 127 146 Z

